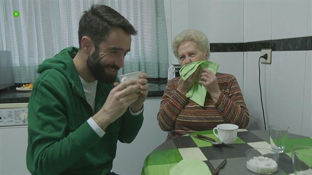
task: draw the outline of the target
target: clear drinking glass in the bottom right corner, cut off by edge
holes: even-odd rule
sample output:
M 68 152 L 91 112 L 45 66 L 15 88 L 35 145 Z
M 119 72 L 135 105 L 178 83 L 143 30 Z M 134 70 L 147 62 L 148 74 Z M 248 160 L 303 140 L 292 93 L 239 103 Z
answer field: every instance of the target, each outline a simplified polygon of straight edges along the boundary
M 312 174 L 312 147 L 295 146 L 292 149 L 292 159 L 296 175 Z

